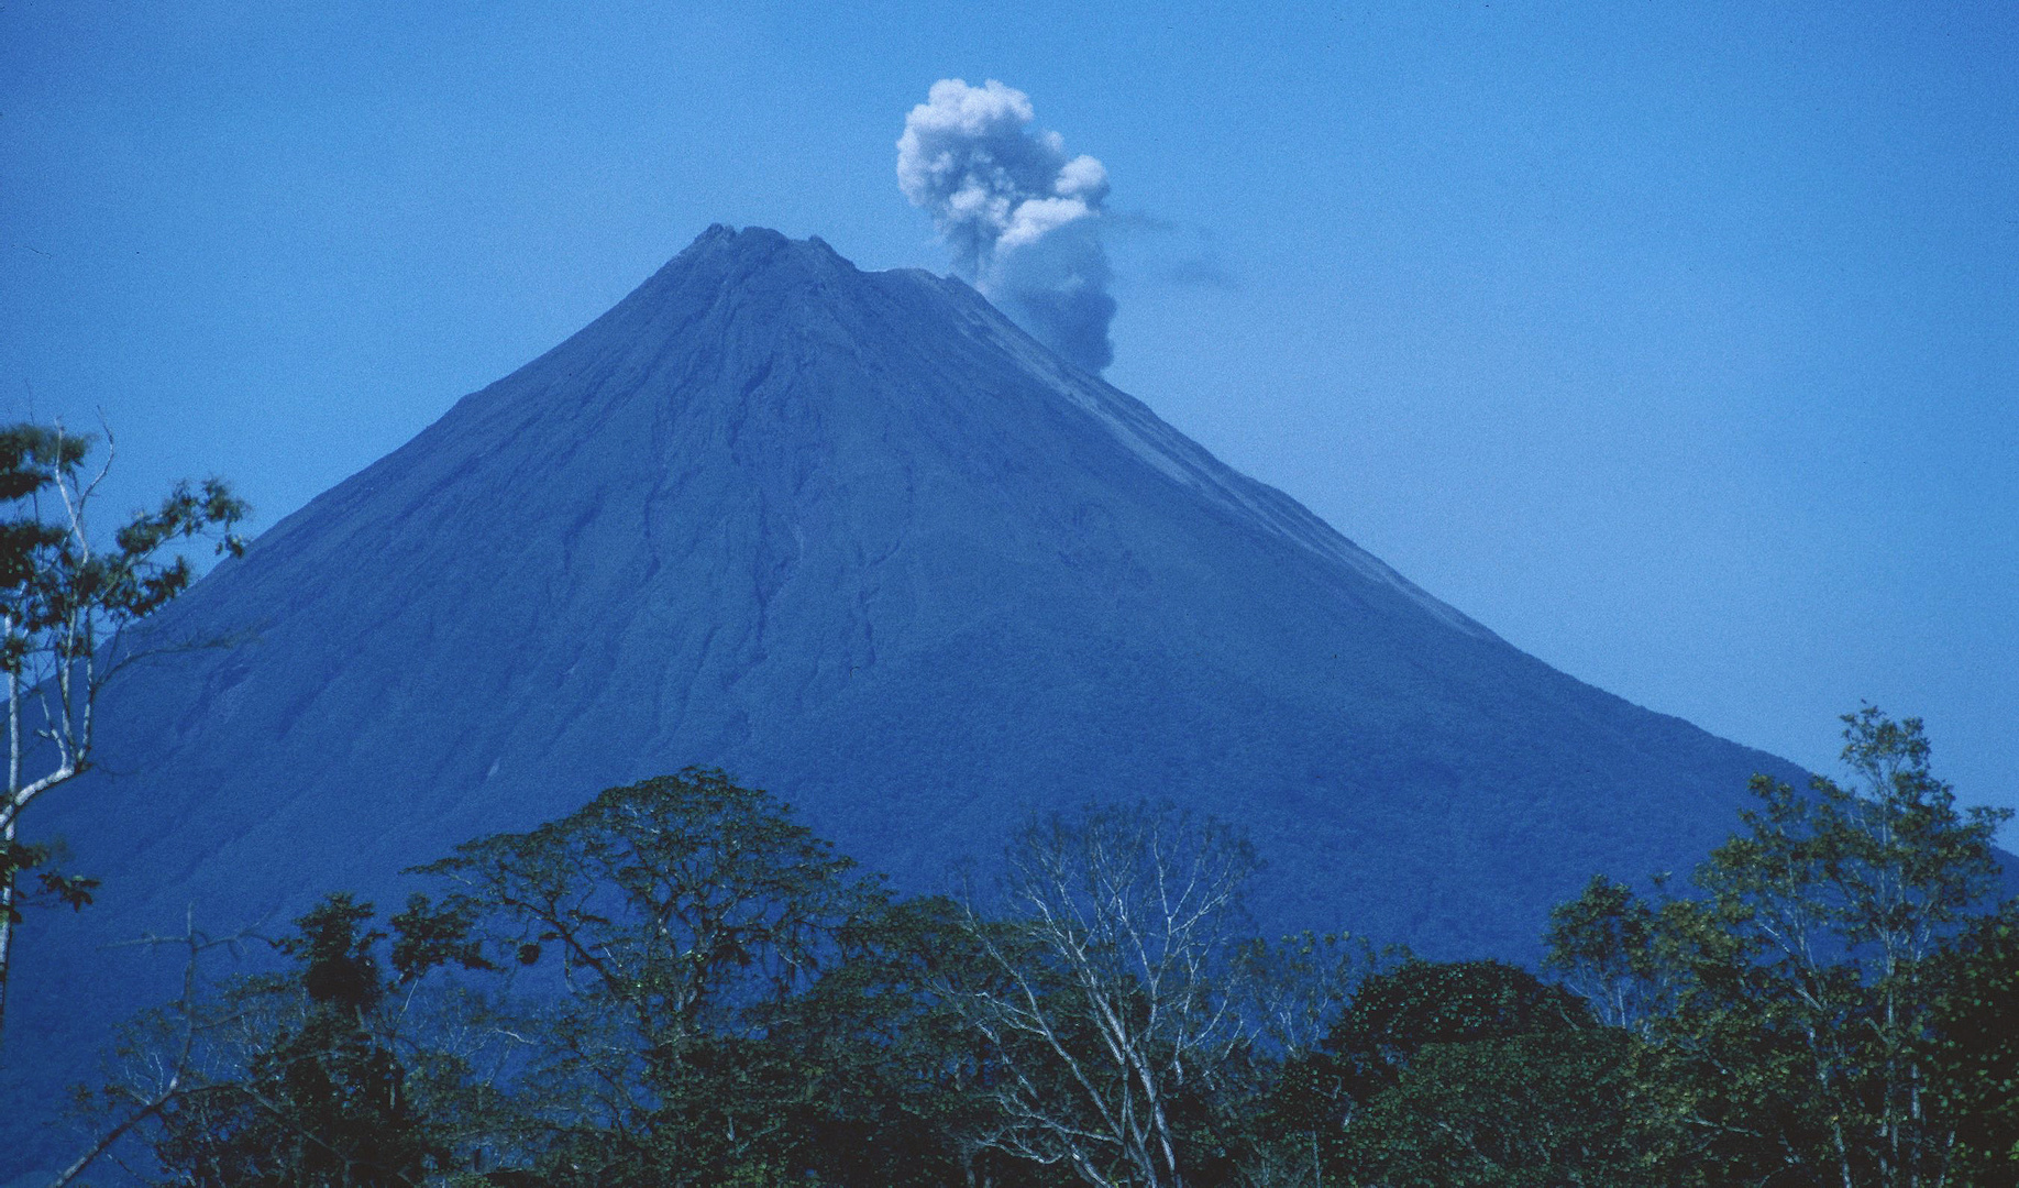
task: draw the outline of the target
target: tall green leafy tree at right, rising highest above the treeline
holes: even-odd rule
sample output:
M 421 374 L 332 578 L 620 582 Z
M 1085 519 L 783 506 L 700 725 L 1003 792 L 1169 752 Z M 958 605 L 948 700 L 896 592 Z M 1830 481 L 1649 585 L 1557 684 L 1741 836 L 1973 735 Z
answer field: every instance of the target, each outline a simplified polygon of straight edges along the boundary
M 1757 776 L 1694 897 L 1595 881 L 1555 915 L 1553 964 L 1609 1010 L 1637 1004 L 1676 1174 L 1696 1178 L 1678 1182 L 1952 1182 L 1938 958 L 1991 903 L 2005 814 L 1956 808 L 1918 719 L 1843 723 L 1853 786 Z

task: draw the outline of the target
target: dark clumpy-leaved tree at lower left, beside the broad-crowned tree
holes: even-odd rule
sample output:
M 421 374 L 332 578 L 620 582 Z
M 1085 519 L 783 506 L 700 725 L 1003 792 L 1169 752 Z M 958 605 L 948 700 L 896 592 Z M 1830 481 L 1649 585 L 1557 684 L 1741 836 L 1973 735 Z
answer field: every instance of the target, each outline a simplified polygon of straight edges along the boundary
M 485 962 L 426 899 L 392 925 L 329 895 L 273 946 L 285 970 L 143 1016 L 99 1095 L 121 1121 L 93 1154 L 131 1131 L 164 1184 L 202 1188 L 406 1188 L 462 1168 L 485 1119 L 472 1063 L 442 1043 L 460 1018 L 430 1026 L 418 990 Z

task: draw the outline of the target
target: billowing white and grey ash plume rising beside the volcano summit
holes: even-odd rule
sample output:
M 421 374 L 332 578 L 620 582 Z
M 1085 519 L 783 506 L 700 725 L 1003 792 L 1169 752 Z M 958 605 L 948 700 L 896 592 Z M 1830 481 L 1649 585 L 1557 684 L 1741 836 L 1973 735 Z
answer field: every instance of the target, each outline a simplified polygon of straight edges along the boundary
M 1114 360 L 1100 242 L 1108 172 L 1068 158 L 1066 141 L 1030 129 L 1032 119 L 1030 95 L 1014 87 L 941 79 L 905 117 L 896 184 L 933 214 L 977 289 L 1038 341 L 1098 372 Z

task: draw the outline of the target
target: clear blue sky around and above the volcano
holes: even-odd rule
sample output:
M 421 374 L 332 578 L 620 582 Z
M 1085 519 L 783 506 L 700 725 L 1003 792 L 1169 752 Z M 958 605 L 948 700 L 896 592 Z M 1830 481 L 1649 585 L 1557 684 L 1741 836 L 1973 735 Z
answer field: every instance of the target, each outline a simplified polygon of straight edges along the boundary
M 1119 212 L 1108 378 L 1545 661 L 2019 806 L 2019 6 L 0 8 L 0 392 L 260 525 L 709 222 L 945 257 L 935 79 Z M 2007 843 L 2019 830 L 2007 830 Z

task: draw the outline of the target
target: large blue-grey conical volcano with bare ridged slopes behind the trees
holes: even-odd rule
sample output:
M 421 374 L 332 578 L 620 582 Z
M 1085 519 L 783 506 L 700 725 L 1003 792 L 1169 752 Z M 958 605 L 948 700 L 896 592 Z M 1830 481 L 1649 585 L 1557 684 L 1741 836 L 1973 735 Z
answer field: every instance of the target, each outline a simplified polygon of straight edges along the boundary
M 755 228 L 157 630 L 252 640 L 125 677 L 105 770 L 32 820 L 105 887 L 26 933 L 14 1077 L 97 1043 L 81 1002 L 170 992 L 107 937 L 384 901 L 686 764 L 909 889 L 1034 810 L 1169 798 L 1248 826 L 1274 929 L 1512 958 L 1595 871 L 1688 869 L 1748 774 L 1795 776 L 1522 655 L 965 285 Z

